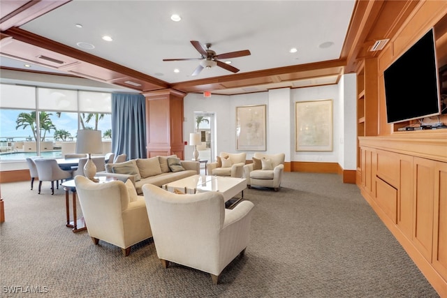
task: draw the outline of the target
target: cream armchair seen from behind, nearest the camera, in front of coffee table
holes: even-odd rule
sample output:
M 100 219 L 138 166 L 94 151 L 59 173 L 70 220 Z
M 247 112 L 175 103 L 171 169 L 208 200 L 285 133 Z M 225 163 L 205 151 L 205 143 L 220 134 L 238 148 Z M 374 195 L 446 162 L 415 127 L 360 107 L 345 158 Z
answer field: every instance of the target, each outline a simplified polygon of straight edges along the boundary
M 243 255 L 249 243 L 252 202 L 225 209 L 223 195 L 214 191 L 180 195 L 145 184 L 142 192 L 163 267 L 174 262 L 205 271 L 217 284 L 221 271 Z

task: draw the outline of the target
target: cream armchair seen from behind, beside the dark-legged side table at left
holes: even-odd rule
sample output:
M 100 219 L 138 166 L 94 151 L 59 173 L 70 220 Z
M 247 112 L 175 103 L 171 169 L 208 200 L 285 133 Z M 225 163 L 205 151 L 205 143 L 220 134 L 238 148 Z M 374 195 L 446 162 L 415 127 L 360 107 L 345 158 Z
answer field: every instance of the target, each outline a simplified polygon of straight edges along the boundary
M 131 246 L 152 237 L 145 199 L 137 196 L 131 181 L 94 183 L 75 177 L 76 192 L 89 236 L 94 244 L 103 240 L 122 248 L 124 256 Z

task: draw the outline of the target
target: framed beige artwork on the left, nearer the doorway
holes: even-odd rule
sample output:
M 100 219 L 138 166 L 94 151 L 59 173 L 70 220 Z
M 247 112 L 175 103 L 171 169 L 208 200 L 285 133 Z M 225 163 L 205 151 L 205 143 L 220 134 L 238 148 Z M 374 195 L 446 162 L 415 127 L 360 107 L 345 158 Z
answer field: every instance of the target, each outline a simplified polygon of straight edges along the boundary
M 236 150 L 265 151 L 266 105 L 236 107 Z

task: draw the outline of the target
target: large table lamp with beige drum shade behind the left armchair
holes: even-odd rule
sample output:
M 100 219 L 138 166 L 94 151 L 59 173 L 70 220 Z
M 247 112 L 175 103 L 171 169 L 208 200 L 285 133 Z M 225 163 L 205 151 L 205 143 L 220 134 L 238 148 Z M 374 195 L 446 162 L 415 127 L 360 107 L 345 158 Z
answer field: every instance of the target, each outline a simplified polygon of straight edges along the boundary
M 96 174 L 96 165 L 91 160 L 91 154 L 103 152 L 103 141 L 101 131 L 82 129 L 78 131 L 76 139 L 76 153 L 86 153 L 89 159 L 84 166 L 84 174 L 88 179 L 94 180 Z

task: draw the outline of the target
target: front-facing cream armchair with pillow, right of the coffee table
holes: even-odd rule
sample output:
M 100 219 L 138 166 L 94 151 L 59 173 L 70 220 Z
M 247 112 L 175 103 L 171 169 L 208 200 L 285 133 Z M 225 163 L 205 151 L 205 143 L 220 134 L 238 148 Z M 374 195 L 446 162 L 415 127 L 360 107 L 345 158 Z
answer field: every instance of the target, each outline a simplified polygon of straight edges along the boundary
M 261 154 L 255 153 L 253 163 L 244 165 L 244 175 L 247 179 L 247 187 L 263 186 L 279 190 L 281 178 L 284 172 L 285 154 Z

